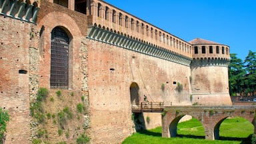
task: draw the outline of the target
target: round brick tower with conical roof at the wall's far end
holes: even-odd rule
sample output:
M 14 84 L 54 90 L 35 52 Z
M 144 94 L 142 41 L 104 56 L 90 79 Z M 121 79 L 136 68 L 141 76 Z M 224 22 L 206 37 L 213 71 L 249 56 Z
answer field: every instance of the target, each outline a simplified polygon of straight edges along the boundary
M 232 105 L 229 96 L 229 46 L 193 39 L 191 100 L 198 105 Z

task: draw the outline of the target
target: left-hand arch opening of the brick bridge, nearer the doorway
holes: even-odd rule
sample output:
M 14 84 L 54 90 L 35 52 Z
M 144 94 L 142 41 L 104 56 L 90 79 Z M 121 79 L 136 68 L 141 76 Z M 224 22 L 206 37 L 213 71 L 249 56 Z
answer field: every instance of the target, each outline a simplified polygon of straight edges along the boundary
M 179 113 L 179 111 L 176 111 Z M 186 123 L 185 125 L 183 123 Z M 180 133 L 179 131 L 187 131 L 185 133 Z M 205 139 L 205 129 L 196 117 L 193 115 L 179 115 L 171 121 L 169 125 L 169 132 L 171 137 L 195 137 L 199 139 Z M 189 134 L 187 134 L 189 133 Z

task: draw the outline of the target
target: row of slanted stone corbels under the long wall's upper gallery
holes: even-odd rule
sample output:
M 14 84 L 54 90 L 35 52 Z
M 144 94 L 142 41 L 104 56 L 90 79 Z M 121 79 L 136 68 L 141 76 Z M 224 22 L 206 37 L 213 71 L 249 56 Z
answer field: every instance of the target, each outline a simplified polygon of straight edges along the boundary
M 135 39 L 132 36 L 119 33 L 119 31 L 113 31 L 113 29 L 101 27 L 100 25 L 93 25 L 89 28 L 88 38 L 95 41 L 101 41 L 102 43 L 108 43 L 109 45 L 115 45 L 145 55 L 151 55 L 159 59 L 165 59 L 167 61 L 173 61 L 181 65 L 189 66 L 191 58 L 181 55 L 175 51 L 153 45 L 147 41 Z

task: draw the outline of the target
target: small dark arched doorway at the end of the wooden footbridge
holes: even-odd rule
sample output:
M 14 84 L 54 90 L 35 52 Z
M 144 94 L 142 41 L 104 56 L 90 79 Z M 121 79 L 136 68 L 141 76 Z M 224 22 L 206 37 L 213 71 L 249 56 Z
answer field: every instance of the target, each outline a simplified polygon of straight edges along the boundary
M 131 97 L 131 105 L 139 105 L 139 86 L 137 83 L 131 83 L 130 86 L 130 97 Z

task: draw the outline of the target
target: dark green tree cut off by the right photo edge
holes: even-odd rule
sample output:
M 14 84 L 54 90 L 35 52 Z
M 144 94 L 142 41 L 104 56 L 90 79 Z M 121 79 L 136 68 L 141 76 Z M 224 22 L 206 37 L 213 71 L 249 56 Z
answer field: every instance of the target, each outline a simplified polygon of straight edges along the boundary
M 256 53 L 249 51 L 247 57 L 245 57 L 244 61 L 244 67 L 245 67 L 245 77 L 244 77 L 244 83 L 245 83 L 245 93 L 252 93 L 254 95 L 254 92 L 256 90 Z

